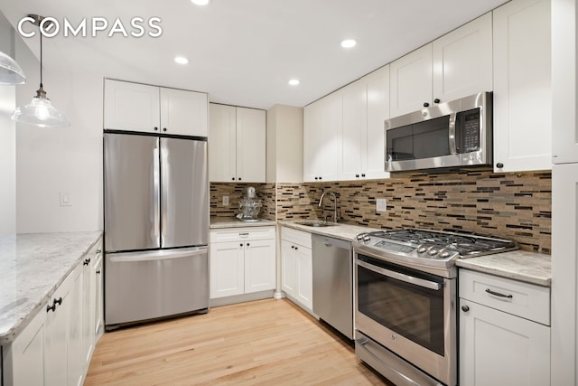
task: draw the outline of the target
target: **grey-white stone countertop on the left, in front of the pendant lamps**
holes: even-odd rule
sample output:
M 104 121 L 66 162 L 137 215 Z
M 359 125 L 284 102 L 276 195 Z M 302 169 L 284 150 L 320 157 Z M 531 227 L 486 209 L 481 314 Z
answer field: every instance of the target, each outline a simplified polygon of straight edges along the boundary
M 0 237 L 0 345 L 20 334 L 101 236 L 86 231 Z

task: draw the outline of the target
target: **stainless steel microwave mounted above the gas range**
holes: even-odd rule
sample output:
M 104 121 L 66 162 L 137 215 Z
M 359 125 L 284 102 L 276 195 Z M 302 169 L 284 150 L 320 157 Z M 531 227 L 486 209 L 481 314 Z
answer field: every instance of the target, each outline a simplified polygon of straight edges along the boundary
M 492 164 L 492 93 L 436 104 L 385 122 L 386 171 Z

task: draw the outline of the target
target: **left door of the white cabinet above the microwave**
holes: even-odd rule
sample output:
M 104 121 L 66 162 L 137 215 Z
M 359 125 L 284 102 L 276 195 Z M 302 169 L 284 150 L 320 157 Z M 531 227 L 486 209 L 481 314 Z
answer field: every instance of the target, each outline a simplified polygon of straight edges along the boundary
M 390 115 L 397 117 L 432 103 L 432 43 L 389 64 Z

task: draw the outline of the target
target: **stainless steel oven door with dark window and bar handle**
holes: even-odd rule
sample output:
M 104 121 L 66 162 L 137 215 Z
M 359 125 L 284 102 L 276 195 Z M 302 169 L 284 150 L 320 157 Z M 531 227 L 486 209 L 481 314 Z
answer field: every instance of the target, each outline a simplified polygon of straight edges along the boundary
M 455 279 L 356 253 L 355 282 L 356 330 L 455 384 Z

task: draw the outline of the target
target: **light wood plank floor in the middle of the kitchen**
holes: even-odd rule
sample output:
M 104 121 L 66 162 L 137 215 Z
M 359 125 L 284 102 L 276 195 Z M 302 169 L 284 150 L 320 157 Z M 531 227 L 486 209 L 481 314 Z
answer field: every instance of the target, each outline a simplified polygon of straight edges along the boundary
M 85 385 L 392 385 L 288 300 L 104 334 Z

